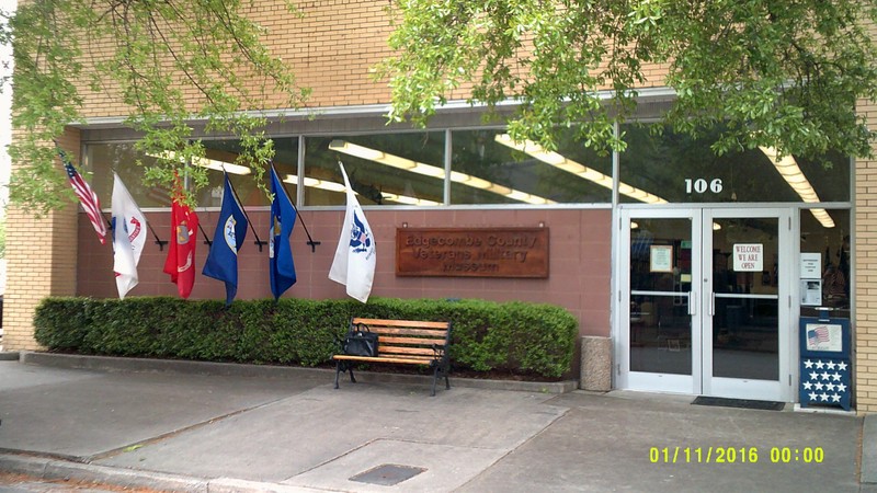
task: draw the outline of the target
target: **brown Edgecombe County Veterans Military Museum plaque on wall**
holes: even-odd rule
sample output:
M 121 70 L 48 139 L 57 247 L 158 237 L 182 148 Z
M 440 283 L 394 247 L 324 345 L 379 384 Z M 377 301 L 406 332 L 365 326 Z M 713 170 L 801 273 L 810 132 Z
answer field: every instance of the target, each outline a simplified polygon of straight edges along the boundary
M 548 277 L 548 228 L 397 228 L 396 275 Z

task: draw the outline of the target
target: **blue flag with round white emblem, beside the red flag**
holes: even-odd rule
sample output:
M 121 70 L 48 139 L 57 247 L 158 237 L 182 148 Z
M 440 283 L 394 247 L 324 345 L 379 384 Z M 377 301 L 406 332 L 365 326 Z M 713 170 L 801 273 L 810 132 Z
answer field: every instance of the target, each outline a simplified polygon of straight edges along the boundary
M 243 208 L 238 203 L 227 173 L 225 179 L 219 222 L 216 225 L 202 274 L 226 283 L 226 305 L 231 305 L 238 293 L 238 252 L 247 238 L 247 216 L 243 215 Z

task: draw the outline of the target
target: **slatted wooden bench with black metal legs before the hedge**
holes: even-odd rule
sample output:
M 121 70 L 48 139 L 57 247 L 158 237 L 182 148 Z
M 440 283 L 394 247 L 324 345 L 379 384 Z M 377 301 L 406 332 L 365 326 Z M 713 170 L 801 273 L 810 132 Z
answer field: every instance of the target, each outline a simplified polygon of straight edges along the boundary
M 342 371 L 350 371 L 350 381 L 356 382 L 353 366 L 357 363 L 389 363 L 394 365 L 420 365 L 433 369 L 432 394 L 435 395 L 435 381 L 444 377 L 445 388 L 451 388 L 447 379 L 451 360 L 447 348 L 451 344 L 451 322 L 424 322 L 418 320 L 384 320 L 353 318 L 350 326 L 364 323 L 371 332 L 378 334 L 377 356 L 353 356 L 341 352 L 332 356 L 335 360 L 335 389 Z

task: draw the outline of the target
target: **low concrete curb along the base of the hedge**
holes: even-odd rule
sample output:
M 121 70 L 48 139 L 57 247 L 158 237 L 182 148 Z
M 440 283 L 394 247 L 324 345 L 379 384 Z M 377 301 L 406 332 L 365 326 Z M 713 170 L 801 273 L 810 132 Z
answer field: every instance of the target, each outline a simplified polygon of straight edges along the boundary
M 180 372 L 191 375 L 218 375 L 260 378 L 291 378 L 296 375 L 308 375 L 312 377 L 323 377 L 326 378 L 327 383 L 334 381 L 334 370 L 326 368 L 250 365 L 242 363 L 193 362 L 184 359 L 126 358 L 38 352 L 23 352 L 21 353 L 20 358 L 16 359 L 20 359 L 21 363 L 30 365 L 100 371 Z M 432 377 L 430 376 L 383 374 L 373 371 L 356 371 L 356 380 L 363 382 L 398 382 L 428 386 L 432 383 Z M 579 388 L 579 382 L 576 380 L 562 380 L 556 382 L 482 380 L 477 378 L 454 377 L 453 372 L 451 374 L 451 381 L 452 387 L 490 390 L 516 390 L 548 394 L 567 393 Z M 443 386 L 440 382 L 440 385 L 436 386 L 436 390 L 442 387 Z M 343 388 L 343 382 L 341 388 Z

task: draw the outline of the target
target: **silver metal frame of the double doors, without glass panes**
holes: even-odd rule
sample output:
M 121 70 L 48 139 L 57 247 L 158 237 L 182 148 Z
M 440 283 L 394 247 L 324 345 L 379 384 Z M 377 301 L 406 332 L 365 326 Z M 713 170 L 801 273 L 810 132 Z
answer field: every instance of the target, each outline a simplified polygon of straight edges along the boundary
M 777 294 L 777 324 L 778 333 L 778 380 L 777 381 L 749 381 L 711 376 L 711 346 L 713 321 L 707 313 L 711 309 L 711 268 L 706 268 L 704 252 L 713 251 L 713 219 L 719 218 L 776 218 L 777 219 L 777 252 L 779 253 Z M 685 219 L 692 220 L 692 287 L 690 295 L 692 317 L 692 375 L 665 375 L 630 371 L 630 221 L 643 219 Z M 615 306 L 614 328 L 615 334 L 615 387 L 619 389 L 690 393 L 720 394 L 747 399 L 770 399 L 786 402 L 794 401 L 795 387 L 791 385 L 795 369 L 793 359 L 797 332 L 794 330 L 793 295 L 796 293 L 796 273 L 794 271 L 797 259 L 796 244 L 794 243 L 794 225 L 797 216 L 791 208 L 773 207 L 685 207 L 685 208 L 618 208 L 618 231 L 616 249 L 615 276 L 618 279 L 617 295 L 613 301 Z M 696 260 L 695 261 L 695 256 Z M 711 263 L 711 255 L 709 255 Z M 696 282 L 698 280 L 699 282 Z M 793 306 L 795 305 L 795 306 Z M 690 310 L 690 313 L 691 313 Z M 709 351 L 708 351 L 709 349 Z M 786 379 L 786 376 L 788 378 Z

